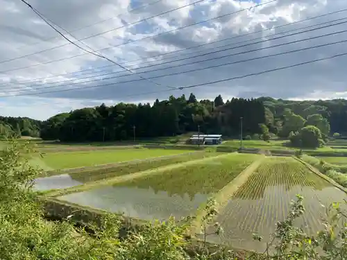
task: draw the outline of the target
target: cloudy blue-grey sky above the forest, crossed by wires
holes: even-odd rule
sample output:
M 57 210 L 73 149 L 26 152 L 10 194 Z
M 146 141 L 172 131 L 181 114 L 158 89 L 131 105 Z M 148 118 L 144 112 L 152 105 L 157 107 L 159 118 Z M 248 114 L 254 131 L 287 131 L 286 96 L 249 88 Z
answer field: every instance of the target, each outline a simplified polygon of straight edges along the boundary
M 347 55 L 339 56 L 347 46 L 346 0 L 28 3 L 113 63 L 67 42 L 22 1 L 0 0 L 1 116 L 44 120 L 191 92 L 198 99 L 347 98 Z M 271 71 L 280 67 L 289 68 Z

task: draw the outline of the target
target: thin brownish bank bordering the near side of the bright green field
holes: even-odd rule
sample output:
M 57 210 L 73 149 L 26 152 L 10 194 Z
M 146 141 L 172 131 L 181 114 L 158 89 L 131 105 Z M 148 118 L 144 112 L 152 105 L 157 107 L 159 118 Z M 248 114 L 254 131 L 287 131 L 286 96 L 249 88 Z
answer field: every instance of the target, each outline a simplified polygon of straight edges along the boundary
M 138 164 L 141 162 L 154 162 L 154 161 L 160 161 L 161 159 L 170 159 L 170 158 L 175 158 L 175 157 L 181 157 L 185 155 L 195 155 L 198 153 L 205 153 L 205 151 L 196 151 L 196 152 L 190 152 L 190 153 L 183 153 L 180 155 L 162 155 L 159 157 L 153 157 L 153 158 L 146 158 L 146 159 L 134 159 L 134 160 L 129 160 L 125 162 L 115 162 L 111 164 L 99 164 L 95 166 L 83 166 L 83 167 L 76 167 L 76 168 L 67 168 L 67 169 L 62 169 L 62 170 L 53 170 L 53 171 L 46 171 L 46 175 L 42 177 L 48 177 L 48 176 L 53 176 L 53 175 L 60 175 L 60 174 L 68 174 L 68 173 L 87 173 L 90 171 L 98 171 L 98 170 L 106 170 L 109 168 L 114 168 L 117 166 L 127 166 L 129 164 Z

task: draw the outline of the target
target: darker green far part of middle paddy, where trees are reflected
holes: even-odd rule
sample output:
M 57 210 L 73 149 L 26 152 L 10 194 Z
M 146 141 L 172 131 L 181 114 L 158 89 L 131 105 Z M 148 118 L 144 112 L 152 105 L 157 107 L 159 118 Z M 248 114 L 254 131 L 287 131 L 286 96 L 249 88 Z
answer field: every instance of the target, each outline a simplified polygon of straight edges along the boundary
M 251 164 L 259 155 L 230 154 L 186 166 L 164 171 L 160 175 L 149 175 L 128 182 L 116 184 L 117 187 L 138 187 L 167 191 L 169 194 L 193 198 L 197 193 L 209 194 L 219 191 Z

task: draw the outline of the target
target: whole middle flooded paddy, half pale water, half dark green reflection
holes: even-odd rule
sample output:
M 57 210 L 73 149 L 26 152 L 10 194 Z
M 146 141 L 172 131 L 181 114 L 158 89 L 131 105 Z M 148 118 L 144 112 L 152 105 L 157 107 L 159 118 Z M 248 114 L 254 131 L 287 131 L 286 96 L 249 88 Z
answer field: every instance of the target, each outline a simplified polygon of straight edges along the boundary
M 214 192 L 232 181 L 261 155 L 229 154 L 173 168 L 114 186 L 60 196 L 78 205 L 144 220 L 176 219 L 195 214 Z

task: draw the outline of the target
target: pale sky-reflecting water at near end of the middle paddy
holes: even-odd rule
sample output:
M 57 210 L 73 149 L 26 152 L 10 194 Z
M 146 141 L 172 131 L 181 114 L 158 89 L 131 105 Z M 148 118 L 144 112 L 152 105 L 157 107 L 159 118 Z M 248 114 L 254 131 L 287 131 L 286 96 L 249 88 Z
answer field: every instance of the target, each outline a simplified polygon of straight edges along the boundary
M 58 199 L 132 218 L 167 220 L 170 216 L 180 219 L 194 213 L 208 199 L 208 195 L 197 193 L 192 197 L 188 194 L 170 194 L 151 187 L 105 187 L 71 193 Z

